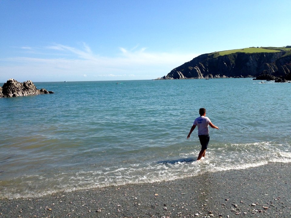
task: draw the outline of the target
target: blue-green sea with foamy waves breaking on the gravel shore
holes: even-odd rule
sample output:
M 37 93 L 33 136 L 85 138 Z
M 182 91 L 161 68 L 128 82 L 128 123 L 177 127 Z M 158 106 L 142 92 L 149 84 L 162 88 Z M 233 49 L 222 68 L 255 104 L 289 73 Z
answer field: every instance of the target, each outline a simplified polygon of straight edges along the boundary
M 291 162 L 291 83 L 265 82 L 35 82 L 54 94 L 0 98 L 0 198 Z M 219 130 L 196 161 L 200 107 Z

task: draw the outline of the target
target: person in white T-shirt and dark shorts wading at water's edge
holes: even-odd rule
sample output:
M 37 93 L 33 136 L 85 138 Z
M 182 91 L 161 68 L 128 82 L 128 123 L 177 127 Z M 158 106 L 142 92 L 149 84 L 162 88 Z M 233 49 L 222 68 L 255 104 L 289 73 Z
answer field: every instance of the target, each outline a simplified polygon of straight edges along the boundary
M 201 144 L 201 151 L 199 152 L 197 160 L 200 160 L 202 157 L 205 157 L 206 149 L 209 143 L 209 129 L 208 125 L 211 126 L 214 129 L 219 128 L 211 123 L 208 117 L 205 117 L 206 109 L 200 108 L 199 109 L 200 117 L 197 117 L 193 123 L 193 126 L 191 127 L 191 130 L 187 136 L 187 139 L 190 138 L 191 133 L 195 129 L 196 126 L 198 126 L 198 137 Z

